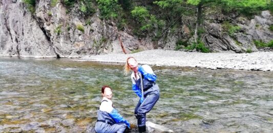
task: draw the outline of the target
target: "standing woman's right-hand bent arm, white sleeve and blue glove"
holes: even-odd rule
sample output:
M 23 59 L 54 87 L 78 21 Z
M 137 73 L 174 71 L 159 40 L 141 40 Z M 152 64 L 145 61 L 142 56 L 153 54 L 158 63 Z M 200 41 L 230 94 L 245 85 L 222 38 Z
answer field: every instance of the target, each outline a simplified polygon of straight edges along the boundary
M 156 81 L 156 74 L 153 72 L 152 68 L 148 65 L 139 65 L 138 71 L 144 76 L 145 79 L 148 79 L 151 82 Z

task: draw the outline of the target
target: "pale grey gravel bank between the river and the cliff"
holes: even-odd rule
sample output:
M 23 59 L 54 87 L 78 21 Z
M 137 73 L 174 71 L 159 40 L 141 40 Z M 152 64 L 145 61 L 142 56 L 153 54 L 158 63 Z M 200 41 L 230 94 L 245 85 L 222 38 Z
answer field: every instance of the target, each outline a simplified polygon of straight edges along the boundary
M 135 57 L 140 64 L 156 66 L 273 71 L 273 52 L 271 51 L 258 51 L 249 54 L 231 54 L 153 49 L 127 55 L 96 55 L 80 58 L 78 61 L 125 63 L 125 60 L 128 57 Z

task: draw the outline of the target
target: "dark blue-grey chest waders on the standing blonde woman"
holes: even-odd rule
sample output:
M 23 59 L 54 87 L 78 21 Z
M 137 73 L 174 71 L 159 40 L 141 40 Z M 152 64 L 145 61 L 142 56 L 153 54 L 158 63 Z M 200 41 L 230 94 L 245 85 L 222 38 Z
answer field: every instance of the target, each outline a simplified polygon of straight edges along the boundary
M 135 116 L 139 132 L 146 131 L 146 113 L 150 112 L 159 99 L 159 87 L 155 82 L 143 78 L 142 74 L 136 81 L 136 85 L 141 89 L 143 102 L 138 101 L 135 108 Z

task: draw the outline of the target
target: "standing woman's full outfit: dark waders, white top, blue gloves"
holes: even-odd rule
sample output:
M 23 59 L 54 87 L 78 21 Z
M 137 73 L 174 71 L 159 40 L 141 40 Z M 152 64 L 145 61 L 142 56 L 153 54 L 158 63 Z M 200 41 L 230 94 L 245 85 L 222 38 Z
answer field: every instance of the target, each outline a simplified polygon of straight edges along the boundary
M 132 89 L 134 92 L 140 97 L 136 108 L 135 108 L 135 116 L 137 118 L 137 125 L 139 132 L 146 131 L 146 113 L 150 112 L 154 107 L 155 103 L 159 99 L 159 87 L 155 83 L 156 75 L 152 71 L 152 68 L 148 65 L 140 66 L 138 69 L 138 73 L 135 75 L 132 73 Z M 141 78 L 143 84 L 143 94 L 144 99 L 142 101 L 141 97 Z

